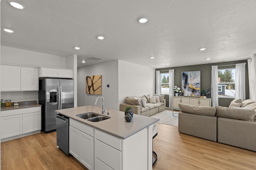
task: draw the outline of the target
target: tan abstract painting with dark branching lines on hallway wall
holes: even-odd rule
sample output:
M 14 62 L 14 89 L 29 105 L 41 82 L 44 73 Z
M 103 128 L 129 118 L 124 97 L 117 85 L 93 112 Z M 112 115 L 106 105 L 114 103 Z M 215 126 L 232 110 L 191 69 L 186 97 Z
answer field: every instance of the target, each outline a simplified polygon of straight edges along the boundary
M 102 75 L 86 76 L 86 94 L 102 95 Z

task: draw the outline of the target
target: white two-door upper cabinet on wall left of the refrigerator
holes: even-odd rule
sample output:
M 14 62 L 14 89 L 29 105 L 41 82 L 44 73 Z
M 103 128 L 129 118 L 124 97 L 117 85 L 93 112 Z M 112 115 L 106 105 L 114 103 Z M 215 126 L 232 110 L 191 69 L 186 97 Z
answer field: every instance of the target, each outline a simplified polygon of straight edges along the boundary
M 38 68 L 1 64 L 1 91 L 38 90 Z

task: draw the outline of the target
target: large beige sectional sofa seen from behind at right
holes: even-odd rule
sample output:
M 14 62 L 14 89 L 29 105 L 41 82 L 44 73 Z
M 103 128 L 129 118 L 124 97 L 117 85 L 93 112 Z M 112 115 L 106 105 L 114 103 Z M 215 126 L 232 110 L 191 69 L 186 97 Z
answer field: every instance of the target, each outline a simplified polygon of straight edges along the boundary
M 179 104 L 180 133 L 256 151 L 256 102 L 233 100 L 229 107 Z

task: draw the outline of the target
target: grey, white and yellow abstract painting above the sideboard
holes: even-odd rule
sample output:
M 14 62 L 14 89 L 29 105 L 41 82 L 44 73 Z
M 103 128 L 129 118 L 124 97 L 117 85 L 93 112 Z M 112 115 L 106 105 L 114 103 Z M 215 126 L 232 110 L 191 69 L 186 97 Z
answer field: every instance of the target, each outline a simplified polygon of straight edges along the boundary
M 182 72 L 181 92 L 182 96 L 200 97 L 201 71 Z

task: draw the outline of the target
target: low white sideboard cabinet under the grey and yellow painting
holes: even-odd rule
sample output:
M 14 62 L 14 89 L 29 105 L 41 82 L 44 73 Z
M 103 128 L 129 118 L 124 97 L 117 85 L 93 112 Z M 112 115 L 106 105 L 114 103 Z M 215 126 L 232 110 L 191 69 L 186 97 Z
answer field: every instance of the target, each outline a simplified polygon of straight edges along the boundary
M 173 97 L 172 107 L 179 107 L 178 104 L 189 104 L 194 106 L 212 106 L 210 98 Z

